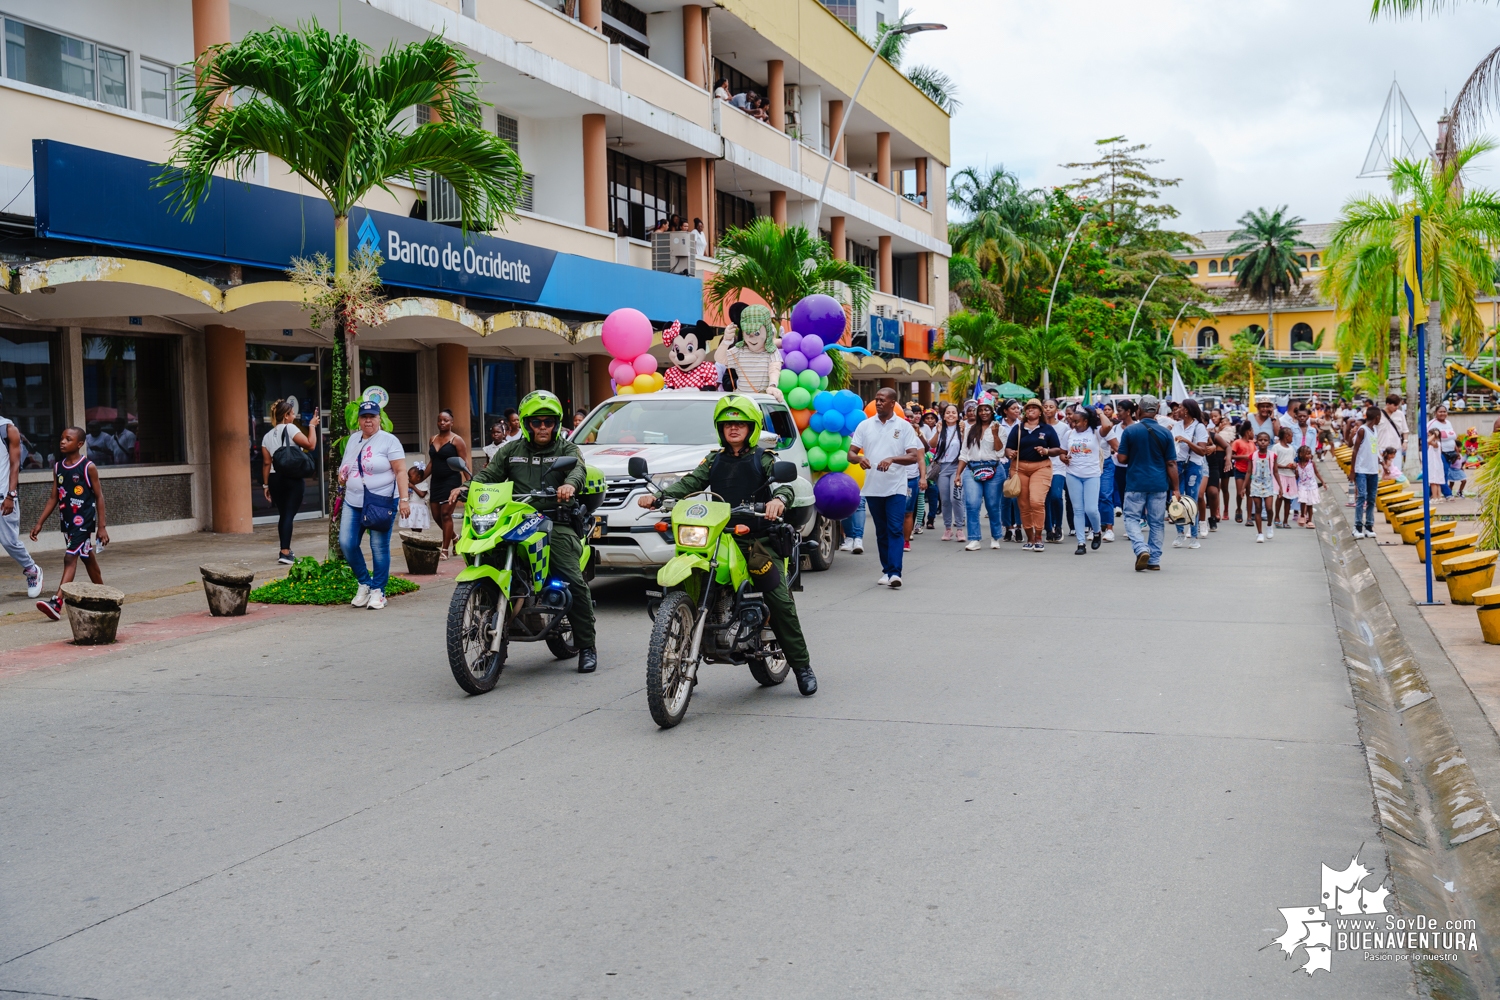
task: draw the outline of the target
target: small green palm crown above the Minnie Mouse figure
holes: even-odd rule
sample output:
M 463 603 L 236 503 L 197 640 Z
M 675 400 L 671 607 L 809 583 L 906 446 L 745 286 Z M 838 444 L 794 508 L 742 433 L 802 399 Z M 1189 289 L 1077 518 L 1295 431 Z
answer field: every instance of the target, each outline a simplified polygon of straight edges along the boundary
M 855 312 L 870 303 L 870 273 L 850 261 L 834 259 L 832 249 L 813 238 L 804 225 L 782 226 L 770 216 L 750 225 L 726 229 L 718 240 L 718 273 L 708 279 L 708 300 L 724 304 L 750 291 L 782 322 L 792 315 L 798 300 L 814 292 L 837 297 L 838 285 L 849 289 Z

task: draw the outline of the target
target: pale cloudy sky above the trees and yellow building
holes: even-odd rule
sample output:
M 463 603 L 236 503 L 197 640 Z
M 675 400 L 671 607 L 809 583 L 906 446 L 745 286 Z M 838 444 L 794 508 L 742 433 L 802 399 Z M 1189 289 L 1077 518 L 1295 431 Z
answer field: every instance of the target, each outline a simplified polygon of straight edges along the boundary
M 1395 76 L 1428 141 L 1464 79 L 1500 45 L 1500 4 L 1371 21 L 1370 0 L 903 0 L 946 31 L 903 64 L 958 85 L 952 171 L 998 166 L 1028 186 L 1074 175 L 1094 141 L 1125 135 L 1180 177 L 1167 201 L 1188 232 L 1288 205 L 1332 222 L 1359 180 Z M 1500 115 L 1486 132 L 1500 136 Z M 1500 151 L 1470 181 L 1500 187 Z

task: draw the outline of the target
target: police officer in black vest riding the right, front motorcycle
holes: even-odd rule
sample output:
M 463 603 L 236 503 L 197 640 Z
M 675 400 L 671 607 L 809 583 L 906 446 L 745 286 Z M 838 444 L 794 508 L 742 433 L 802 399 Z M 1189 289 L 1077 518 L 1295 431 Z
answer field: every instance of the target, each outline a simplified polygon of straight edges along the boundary
M 786 655 L 788 666 L 796 675 L 796 690 L 802 694 L 818 691 L 818 678 L 802 637 L 802 625 L 796 619 L 796 604 L 783 573 L 784 559 L 771 544 L 771 525 L 792 502 L 792 487 L 776 483 L 771 471 L 776 453 L 756 447 L 760 438 L 760 408 L 746 396 L 724 396 L 714 406 L 714 426 L 718 430 L 722 450 L 712 451 L 696 469 L 676 483 L 660 490 L 660 496 L 642 496 L 640 507 L 654 508 L 662 499 L 682 499 L 710 490 L 730 505 L 765 504 L 765 516 L 735 516 L 730 523 L 742 523 L 748 534 L 735 535 L 746 556 L 750 579 L 765 601 L 771 631 Z M 792 558 L 796 558 L 795 555 Z

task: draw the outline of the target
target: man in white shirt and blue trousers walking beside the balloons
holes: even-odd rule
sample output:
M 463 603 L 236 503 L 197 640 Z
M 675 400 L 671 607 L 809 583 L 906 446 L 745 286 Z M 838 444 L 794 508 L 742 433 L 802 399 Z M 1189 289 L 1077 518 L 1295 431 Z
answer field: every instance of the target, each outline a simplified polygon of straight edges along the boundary
M 874 394 L 874 420 L 855 427 L 849 439 L 849 460 L 864 472 L 866 508 L 874 520 L 876 549 L 880 553 L 880 586 L 902 586 L 902 552 L 906 538 L 906 469 L 922 456 L 922 441 L 909 423 L 896 415 L 896 390 Z

